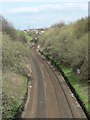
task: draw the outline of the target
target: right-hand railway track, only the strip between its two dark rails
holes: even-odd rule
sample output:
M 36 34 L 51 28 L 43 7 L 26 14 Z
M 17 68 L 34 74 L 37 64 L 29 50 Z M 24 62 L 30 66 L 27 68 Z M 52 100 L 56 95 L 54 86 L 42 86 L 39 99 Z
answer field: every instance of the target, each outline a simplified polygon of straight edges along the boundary
M 37 54 L 36 54 L 36 55 L 37 55 Z M 49 74 L 49 76 L 50 76 L 50 78 L 51 78 L 51 81 L 52 81 L 52 83 L 53 83 L 55 95 L 56 95 L 56 98 L 57 98 L 57 101 L 58 101 L 58 105 L 59 105 L 60 116 L 61 116 L 61 117 L 65 117 L 65 115 L 66 115 L 66 117 L 67 117 L 67 115 L 68 115 L 69 118 L 74 118 L 74 115 L 73 115 L 72 109 L 71 109 L 71 107 L 70 107 L 70 105 L 69 105 L 69 102 L 68 102 L 68 100 L 67 100 L 65 91 L 64 91 L 64 89 L 63 89 L 63 87 L 62 87 L 62 84 L 61 84 L 61 82 L 59 81 L 59 79 L 58 79 L 55 71 L 54 71 L 54 70 L 53 70 L 53 71 L 50 70 L 50 68 L 49 68 L 50 65 L 49 65 L 49 64 L 47 65 L 47 62 L 44 62 L 42 59 L 40 59 L 40 56 L 37 55 L 37 57 L 38 57 L 38 59 L 43 63 L 44 67 L 45 67 L 46 70 L 48 71 L 48 74 Z M 66 103 L 67 103 L 67 104 L 65 104 L 65 106 L 67 105 L 68 111 L 66 111 L 65 113 L 61 111 L 61 102 L 60 102 L 60 101 L 61 101 L 61 100 L 60 100 L 60 99 L 61 99 L 61 93 L 59 93 L 59 91 L 62 91 L 62 94 L 63 94 L 62 96 L 65 97 L 64 100 L 65 100 Z M 66 109 L 66 108 L 65 108 L 65 109 Z M 67 113 L 67 112 L 68 112 L 68 113 Z

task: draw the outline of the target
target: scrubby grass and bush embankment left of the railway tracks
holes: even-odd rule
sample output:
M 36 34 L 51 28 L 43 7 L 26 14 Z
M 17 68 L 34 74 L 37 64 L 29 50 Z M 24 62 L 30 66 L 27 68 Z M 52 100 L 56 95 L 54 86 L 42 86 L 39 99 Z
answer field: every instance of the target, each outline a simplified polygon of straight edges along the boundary
M 17 30 L 0 16 L 2 22 L 2 117 L 13 119 L 27 93 L 30 77 L 29 47 L 23 32 Z

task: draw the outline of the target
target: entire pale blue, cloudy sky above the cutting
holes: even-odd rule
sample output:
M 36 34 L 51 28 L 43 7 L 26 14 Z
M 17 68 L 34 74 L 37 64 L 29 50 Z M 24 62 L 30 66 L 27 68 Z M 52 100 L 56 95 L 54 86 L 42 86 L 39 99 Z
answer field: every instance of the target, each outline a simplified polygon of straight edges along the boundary
M 0 0 L 0 8 L 17 29 L 49 27 L 88 16 L 88 0 Z

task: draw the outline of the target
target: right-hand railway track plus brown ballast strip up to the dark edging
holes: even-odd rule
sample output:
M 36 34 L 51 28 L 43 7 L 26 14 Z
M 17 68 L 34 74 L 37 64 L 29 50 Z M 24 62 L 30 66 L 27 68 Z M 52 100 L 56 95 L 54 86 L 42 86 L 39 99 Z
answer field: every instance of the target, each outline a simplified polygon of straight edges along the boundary
M 74 108 L 72 105 L 71 105 L 71 102 L 70 102 L 70 97 L 67 95 L 67 91 L 65 91 L 65 87 L 64 86 L 67 86 L 66 82 L 64 79 L 62 79 L 63 77 L 61 76 L 61 79 L 63 80 L 60 80 L 60 73 L 58 73 L 57 75 L 57 72 L 55 70 L 55 67 L 53 66 L 53 69 L 51 67 L 51 65 L 47 62 L 47 60 L 43 60 L 36 52 L 35 52 L 36 56 L 38 57 L 38 59 L 41 61 L 41 63 L 44 65 L 44 67 L 46 68 L 46 70 L 48 71 L 48 74 L 51 78 L 51 81 L 52 81 L 52 84 L 54 86 L 54 91 L 55 91 L 55 95 L 56 95 L 56 98 L 57 98 L 57 101 L 58 101 L 58 106 L 59 106 L 59 111 L 60 111 L 60 117 L 61 118 L 84 118 L 86 117 L 85 114 L 82 114 L 83 111 L 79 105 L 79 103 L 77 102 L 77 100 L 75 99 L 75 97 L 73 98 L 74 99 L 74 102 L 76 103 L 76 105 L 78 107 Z M 64 82 L 64 85 L 62 84 L 62 82 Z M 68 87 L 68 86 L 67 86 Z M 70 91 L 70 89 L 68 88 L 69 90 L 69 93 L 71 95 L 72 92 Z M 61 95 L 62 94 L 62 95 Z M 61 103 L 61 97 L 63 97 L 63 102 Z M 71 97 L 72 99 L 72 97 Z M 74 103 L 72 102 L 72 103 Z M 65 103 L 65 106 L 64 105 L 61 105 L 61 104 L 64 104 Z M 78 108 L 78 110 L 77 110 Z M 73 110 L 75 109 L 75 110 Z M 80 113 L 80 114 L 79 114 Z

